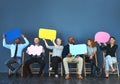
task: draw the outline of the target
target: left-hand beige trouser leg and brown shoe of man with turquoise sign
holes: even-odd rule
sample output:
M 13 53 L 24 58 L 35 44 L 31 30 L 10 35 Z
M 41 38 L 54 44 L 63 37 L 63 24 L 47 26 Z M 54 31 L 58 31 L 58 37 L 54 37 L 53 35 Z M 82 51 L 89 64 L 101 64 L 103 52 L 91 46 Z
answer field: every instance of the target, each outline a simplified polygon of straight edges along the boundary
M 65 79 L 69 79 L 70 76 L 69 76 L 69 67 L 68 67 L 68 62 L 72 62 L 73 60 L 73 57 L 65 57 L 63 59 L 63 65 L 64 65 L 64 69 L 65 69 Z

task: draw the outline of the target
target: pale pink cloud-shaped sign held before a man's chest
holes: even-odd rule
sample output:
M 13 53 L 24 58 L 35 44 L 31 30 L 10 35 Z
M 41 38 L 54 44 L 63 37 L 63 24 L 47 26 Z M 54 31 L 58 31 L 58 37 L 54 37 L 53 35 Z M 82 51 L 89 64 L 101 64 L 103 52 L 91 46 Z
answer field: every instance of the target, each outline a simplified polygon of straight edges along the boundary
M 41 55 L 41 53 L 43 52 L 43 47 L 42 46 L 34 46 L 31 45 L 30 47 L 27 48 L 27 53 L 29 55 Z

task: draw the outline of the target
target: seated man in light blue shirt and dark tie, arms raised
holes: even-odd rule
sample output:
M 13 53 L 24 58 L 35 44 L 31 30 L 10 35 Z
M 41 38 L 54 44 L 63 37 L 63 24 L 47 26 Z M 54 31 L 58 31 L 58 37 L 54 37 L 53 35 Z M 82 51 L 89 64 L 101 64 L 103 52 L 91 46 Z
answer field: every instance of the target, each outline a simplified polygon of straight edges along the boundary
M 22 38 L 25 40 L 24 44 L 20 44 L 20 38 L 15 40 L 15 44 L 7 44 L 6 37 L 3 34 L 3 47 L 10 49 L 11 51 L 11 58 L 7 60 L 5 63 L 8 68 L 12 71 L 13 74 L 17 73 L 17 71 L 21 67 L 21 58 L 22 58 L 22 51 L 23 49 L 29 45 L 29 41 L 27 38 L 22 34 Z M 13 66 L 13 64 L 17 64 L 17 67 Z

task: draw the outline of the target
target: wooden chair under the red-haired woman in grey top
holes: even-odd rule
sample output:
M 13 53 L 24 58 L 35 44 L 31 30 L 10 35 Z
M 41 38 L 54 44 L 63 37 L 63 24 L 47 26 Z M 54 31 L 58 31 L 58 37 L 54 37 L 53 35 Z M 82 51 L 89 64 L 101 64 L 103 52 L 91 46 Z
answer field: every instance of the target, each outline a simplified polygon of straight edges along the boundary
M 91 67 L 87 67 L 90 65 L 90 63 L 85 61 L 85 57 L 86 55 L 83 56 L 84 59 L 84 77 L 86 77 L 86 74 L 91 74 Z M 96 66 L 98 65 L 98 61 L 97 61 L 97 55 L 95 55 L 95 61 L 96 61 Z

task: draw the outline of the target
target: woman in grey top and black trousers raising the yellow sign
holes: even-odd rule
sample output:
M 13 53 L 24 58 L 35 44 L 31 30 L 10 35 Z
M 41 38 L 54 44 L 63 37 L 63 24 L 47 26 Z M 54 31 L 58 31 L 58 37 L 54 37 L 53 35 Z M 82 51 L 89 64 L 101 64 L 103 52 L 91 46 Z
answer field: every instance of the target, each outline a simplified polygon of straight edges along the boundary
M 53 40 L 53 44 L 54 46 L 49 46 L 46 42 L 45 39 L 43 39 L 45 42 L 45 45 L 48 49 L 52 49 L 53 53 L 52 53 L 52 58 L 51 58 L 51 65 L 49 68 L 49 71 L 54 70 L 55 71 L 55 77 L 58 78 L 58 63 L 60 63 L 61 60 L 61 56 L 62 56 L 62 51 L 63 51 L 63 46 L 61 45 L 62 40 L 60 38 L 56 39 L 56 43 Z

